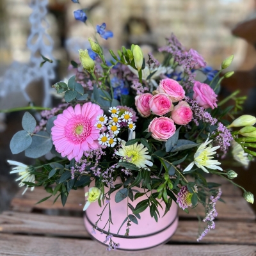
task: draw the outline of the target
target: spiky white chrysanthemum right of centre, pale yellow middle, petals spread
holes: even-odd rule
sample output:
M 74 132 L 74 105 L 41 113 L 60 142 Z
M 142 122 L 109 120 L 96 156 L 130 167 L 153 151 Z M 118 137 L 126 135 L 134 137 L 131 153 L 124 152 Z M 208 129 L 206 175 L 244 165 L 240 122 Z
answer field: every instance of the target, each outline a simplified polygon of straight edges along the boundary
M 196 166 L 202 169 L 204 172 L 208 172 L 205 167 L 212 170 L 218 169 L 222 171 L 222 168 L 218 166 L 221 163 L 218 162 L 217 160 L 212 160 L 212 158 L 214 158 L 213 155 L 216 154 L 215 150 L 220 148 L 220 146 L 213 148 L 206 147 L 209 143 L 211 143 L 211 141 L 212 140 L 209 141 L 209 138 L 207 138 L 207 140 L 198 147 L 194 155 L 194 161 L 191 164 L 189 164 L 188 167 L 183 172 L 188 172 L 189 170 L 191 170 L 194 164 L 196 164 Z

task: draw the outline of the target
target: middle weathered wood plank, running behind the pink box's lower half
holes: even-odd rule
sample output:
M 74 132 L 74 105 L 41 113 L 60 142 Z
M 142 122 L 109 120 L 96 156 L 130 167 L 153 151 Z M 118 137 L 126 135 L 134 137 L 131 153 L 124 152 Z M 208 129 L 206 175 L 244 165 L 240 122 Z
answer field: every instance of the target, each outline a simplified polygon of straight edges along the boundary
M 84 228 L 83 218 L 11 211 L 0 215 L 0 232 L 89 237 Z M 179 221 L 179 226 L 171 241 L 196 243 L 197 235 L 197 221 Z M 200 243 L 256 245 L 256 223 L 216 221 L 216 228 L 211 230 Z

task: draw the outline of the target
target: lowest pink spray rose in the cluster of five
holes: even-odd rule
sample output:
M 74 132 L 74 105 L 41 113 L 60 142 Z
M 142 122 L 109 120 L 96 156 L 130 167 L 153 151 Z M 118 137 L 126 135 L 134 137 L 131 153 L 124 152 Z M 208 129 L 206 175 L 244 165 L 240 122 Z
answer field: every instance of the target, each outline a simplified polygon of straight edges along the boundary
M 152 132 L 151 136 L 160 141 L 167 141 L 168 138 L 175 134 L 176 127 L 171 118 L 161 116 L 154 118 L 148 125 L 148 131 Z

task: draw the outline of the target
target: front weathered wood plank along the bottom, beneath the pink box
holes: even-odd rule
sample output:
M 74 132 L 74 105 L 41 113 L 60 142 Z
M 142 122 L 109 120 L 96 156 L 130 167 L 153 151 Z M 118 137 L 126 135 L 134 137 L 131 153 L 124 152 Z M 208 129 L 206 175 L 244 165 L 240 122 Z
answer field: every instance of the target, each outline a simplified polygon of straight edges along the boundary
M 121 245 L 122 246 L 122 245 Z M 149 251 L 135 253 L 140 256 L 196 255 L 196 256 L 255 256 L 256 246 L 249 245 L 162 245 Z M 109 256 L 109 252 L 95 241 L 83 239 L 64 239 L 54 237 L 28 237 L 0 234 L 0 255 L 26 256 Z M 116 256 L 131 255 L 115 252 Z

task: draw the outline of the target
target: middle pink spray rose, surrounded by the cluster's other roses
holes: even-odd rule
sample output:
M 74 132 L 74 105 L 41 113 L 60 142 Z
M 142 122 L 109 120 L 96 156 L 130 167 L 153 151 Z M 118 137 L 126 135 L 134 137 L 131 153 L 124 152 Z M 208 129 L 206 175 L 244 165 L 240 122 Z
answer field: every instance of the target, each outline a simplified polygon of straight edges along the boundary
M 166 93 L 158 93 L 149 100 L 149 108 L 155 115 L 163 116 L 172 111 L 172 100 Z

